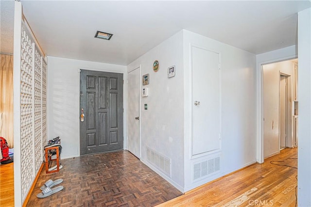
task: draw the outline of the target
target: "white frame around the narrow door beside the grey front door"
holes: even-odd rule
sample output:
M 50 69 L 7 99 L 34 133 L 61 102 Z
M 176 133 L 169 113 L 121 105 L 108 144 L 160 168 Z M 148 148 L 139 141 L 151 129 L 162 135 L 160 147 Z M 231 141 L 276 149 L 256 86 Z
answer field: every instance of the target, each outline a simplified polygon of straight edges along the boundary
M 141 95 L 140 95 L 140 92 L 141 92 L 141 88 L 142 88 L 141 79 L 140 79 L 140 77 L 142 76 L 141 75 L 141 64 L 139 64 L 139 66 L 132 67 L 130 70 L 127 71 L 127 73 L 126 73 L 126 84 L 124 84 L 124 85 L 126 85 L 126 89 L 128 90 L 128 88 L 127 88 L 128 74 L 134 70 L 137 70 L 137 69 L 139 69 L 139 110 L 138 110 L 139 120 L 138 121 L 139 121 L 139 159 L 140 159 L 141 158 Z M 126 148 L 124 147 L 124 149 L 128 150 L 128 148 L 127 148 L 127 140 L 128 140 L 128 136 L 127 136 L 127 111 L 128 111 L 127 100 L 128 100 L 128 96 L 127 96 L 127 94 L 128 94 L 128 91 L 127 90 L 126 90 L 126 139 L 124 139 L 124 140 L 126 140 Z M 123 114 L 123 115 L 125 115 L 125 114 Z

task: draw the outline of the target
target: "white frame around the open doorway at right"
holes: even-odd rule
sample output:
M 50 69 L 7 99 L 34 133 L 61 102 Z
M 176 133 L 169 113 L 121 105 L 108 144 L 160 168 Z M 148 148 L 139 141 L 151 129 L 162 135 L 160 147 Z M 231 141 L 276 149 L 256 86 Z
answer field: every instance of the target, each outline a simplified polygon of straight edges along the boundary
M 257 62 L 257 153 L 256 159 L 259 164 L 264 162 L 263 152 L 263 68 L 265 64 L 273 64 L 283 61 L 297 59 L 298 55 L 283 56 L 266 61 Z

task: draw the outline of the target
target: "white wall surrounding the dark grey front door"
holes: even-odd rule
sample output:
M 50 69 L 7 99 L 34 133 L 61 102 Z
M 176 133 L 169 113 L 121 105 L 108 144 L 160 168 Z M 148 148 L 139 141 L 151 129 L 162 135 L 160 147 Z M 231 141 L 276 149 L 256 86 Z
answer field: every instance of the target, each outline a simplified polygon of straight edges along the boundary
M 48 57 L 48 139 L 60 136 L 62 159 L 80 156 L 80 69 L 123 73 L 123 80 L 126 80 L 126 66 Z M 123 88 L 124 137 L 127 104 L 125 97 L 126 84 Z

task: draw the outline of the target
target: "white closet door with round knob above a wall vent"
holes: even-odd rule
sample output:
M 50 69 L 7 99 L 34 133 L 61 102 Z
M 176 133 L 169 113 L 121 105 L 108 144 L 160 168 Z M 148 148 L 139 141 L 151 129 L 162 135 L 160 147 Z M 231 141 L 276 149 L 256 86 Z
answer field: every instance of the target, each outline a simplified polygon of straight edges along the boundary
M 220 54 L 192 47 L 192 155 L 220 150 Z

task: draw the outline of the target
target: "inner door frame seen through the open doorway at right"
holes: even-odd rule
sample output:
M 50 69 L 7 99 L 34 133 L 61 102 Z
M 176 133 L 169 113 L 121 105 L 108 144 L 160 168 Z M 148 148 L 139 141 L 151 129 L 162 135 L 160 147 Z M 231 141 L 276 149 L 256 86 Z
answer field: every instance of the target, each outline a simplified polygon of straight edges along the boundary
M 288 97 L 289 97 L 289 93 L 290 93 L 290 91 L 291 90 L 289 90 L 289 87 L 288 87 L 288 78 L 289 77 L 291 77 L 291 75 L 288 75 L 288 74 L 286 74 L 286 73 L 281 73 L 281 72 L 279 72 L 279 83 L 278 83 L 278 85 L 279 85 L 279 96 L 278 96 L 278 104 L 279 104 L 279 111 L 278 111 L 278 126 L 279 126 L 279 132 L 278 132 L 278 145 L 279 145 L 279 147 L 280 147 L 280 145 L 281 145 L 281 95 L 280 95 L 280 91 L 281 91 L 281 76 L 285 76 L 286 78 L 286 92 L 285 92 L 285 133 L 286 133 L 286 137 L 285 137 L 285 147 L 287 147 L 287 145 L 288 145 L 288 135 L 289 135 L 289 133 L 288 133 L 288 130 L 289 130 L 289 125 L 288 125 L 288 123 L 289 123 L 289 99 L 288 99 Z M 293 88 L 293 86 L 291 87 L 291 89 L 293 89 L 294 90 L 294 88 Z M 292 97 L 293 98 L 293 97 Z M 292 106 L 293 107 L 293 106 Z M 292 126 L 293 124 L 291 124 L 291 126 Z M 281 150 L 281 149 L 280 149 Z

